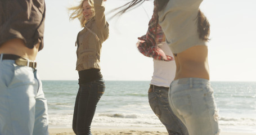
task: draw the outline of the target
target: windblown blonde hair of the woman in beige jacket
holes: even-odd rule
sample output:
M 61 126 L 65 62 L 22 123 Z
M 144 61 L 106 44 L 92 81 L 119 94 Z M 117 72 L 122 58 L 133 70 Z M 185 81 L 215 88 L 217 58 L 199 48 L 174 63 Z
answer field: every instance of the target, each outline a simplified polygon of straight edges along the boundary
M 86 19 L 83 16 L 83 2 L 84 1 L 88 1 L 88 3 L 92 6 L 92 17 L 94 17 L 95 10 L 94 10 L 93 0 L 82 0 L 78 6 L 68 8 L 69 11 L 72 11 L 69 16 L 69 19 L 74 20 L 74 19 L 78 18 L 82 27 L 84 27 L 86 24 Z

